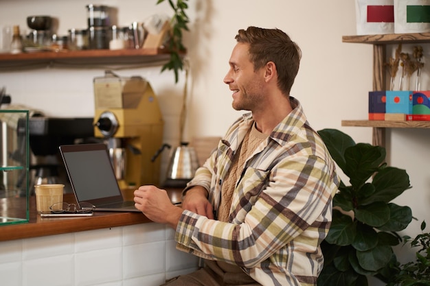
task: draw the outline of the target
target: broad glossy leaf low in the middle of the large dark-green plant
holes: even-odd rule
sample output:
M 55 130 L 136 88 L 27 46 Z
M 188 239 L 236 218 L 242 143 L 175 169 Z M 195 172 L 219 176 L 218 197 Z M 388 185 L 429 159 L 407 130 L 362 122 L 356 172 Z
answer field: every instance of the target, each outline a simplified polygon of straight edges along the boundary
M 390 246 L 376 246 L 371 250 L 358 251 L 357 259 L 363 269 L 370 271 L 378 271 L 385 267 L 392 258 L 393 250 Z

